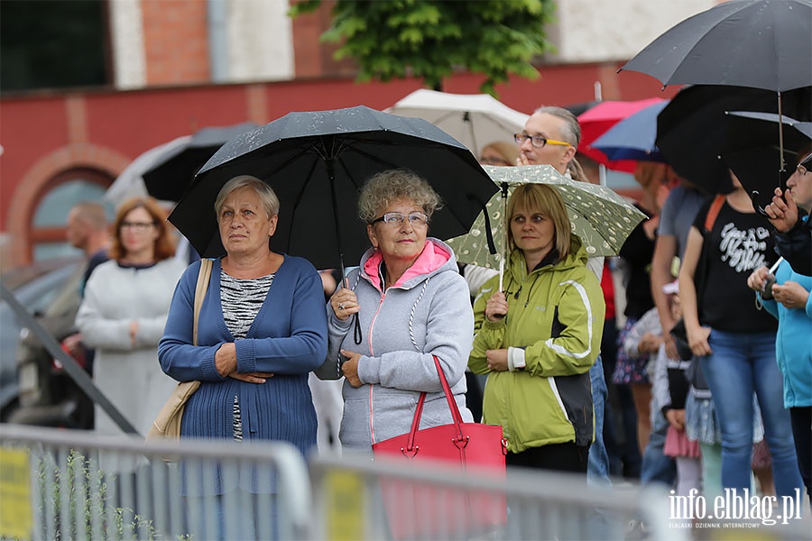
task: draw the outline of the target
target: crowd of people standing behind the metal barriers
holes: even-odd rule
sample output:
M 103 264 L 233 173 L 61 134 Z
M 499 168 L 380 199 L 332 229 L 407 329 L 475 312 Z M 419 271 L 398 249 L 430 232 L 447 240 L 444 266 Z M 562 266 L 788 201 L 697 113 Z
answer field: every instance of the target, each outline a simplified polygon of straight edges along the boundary
M 579 139 L 575 115 L 545 106 L 480 160 L 589 182 Z M 762 494 L 812 495 L 812 151 L 798 157 L 766 217 L 732 171 L 732 190 L 712 197 L 665 164 L 641 165 L 647 218 L 607 261 L 587 257 L 556 189 L 523 185 L 508 201 L 502 281 L 430 236 L 442 201 L 411 171 L 366 180 L 370 247 L 344 277 L 272 252 L 284 209 L 261 179 L 238 176 L 201 209 L 216 213 L 226 255 L 199 318 L 201 263 L 175 257 L 165 213 L 137 198 L 115 217 L 110 261 L 88 272 L 77 325 L 97 352 L 97 386 L 143 433 L 173 382 L 194 380 L 181 437 L 284 440 L 309 454 L 315 373 L 344 381 L 325 437 L 372 454 L 409 431 L 421 393 L 420 428 L 452 422 L 437 358 L 463 420 L 503 427 L 511 466 L 712 496 L 752 488 L 755 471 Z M 669 332 L 678 323 L 683 344 Z M 115 432 L 101 411 L 96 427 Z M 239 489 L 259 490 L 252 482 Z

